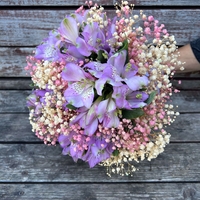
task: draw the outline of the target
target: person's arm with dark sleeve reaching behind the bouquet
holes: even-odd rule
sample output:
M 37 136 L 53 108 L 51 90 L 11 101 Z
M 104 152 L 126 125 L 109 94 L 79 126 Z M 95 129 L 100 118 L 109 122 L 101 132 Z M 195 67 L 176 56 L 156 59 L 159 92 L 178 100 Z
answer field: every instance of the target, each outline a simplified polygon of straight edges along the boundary
M 200 71 L 200 39 L 180 47 L 178 52 L 180 53 L 178 60 L 185 63 L 183 71 L 176 69 L 178 73 Z

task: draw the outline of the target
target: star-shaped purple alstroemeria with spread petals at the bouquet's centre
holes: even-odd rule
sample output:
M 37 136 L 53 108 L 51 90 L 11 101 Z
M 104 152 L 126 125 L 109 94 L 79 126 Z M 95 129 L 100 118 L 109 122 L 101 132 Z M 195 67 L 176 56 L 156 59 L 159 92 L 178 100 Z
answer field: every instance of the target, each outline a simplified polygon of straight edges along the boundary
M 95 82 L 97 94 L 102 95 L 106 83 L 113 87 L 123 86 L 124 83 L 132 91 L 137 91 L 147 86 L 149 80 L 146 76 L 138 76 L 138 68 L 130 63 L 125 64 L 127 52 L 123 50 L 111 56 L 107 63 L 90 62 L 86 64 L 89 72 L 98 80 Z

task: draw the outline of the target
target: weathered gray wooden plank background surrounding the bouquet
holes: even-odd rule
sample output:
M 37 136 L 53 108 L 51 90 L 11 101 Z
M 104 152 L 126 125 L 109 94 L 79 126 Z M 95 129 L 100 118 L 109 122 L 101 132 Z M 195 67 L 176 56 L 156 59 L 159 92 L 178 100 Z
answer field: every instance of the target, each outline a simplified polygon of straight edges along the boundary
M 89 169 L 45 146 L 28 121 L 30 77 L 26 56 L 85 0 L 0 0 L 0 200 L 197 200 L 200 199 L 200 75 L 180 74 L 174 95 L 181 115 L 168 128 L 171 143 L 133 177 Z M 108 15 L 115 1 L 97 0 Z M 179 46 L 200 37 L 200 0 L 135 0 L 135 12 L 154 15 Z

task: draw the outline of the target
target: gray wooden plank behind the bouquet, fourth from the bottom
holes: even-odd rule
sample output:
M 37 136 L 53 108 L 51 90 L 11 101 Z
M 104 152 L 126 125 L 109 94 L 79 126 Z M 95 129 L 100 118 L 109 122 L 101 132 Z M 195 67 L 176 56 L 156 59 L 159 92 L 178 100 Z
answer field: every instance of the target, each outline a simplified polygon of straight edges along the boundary
M 0 113 L 27 112 L 26 97 L 30 90 L 0 90 Z M 179 112 L 200 112 L 200 91 L 181 91 L 172 95 L 169 103 L 178 105 Z

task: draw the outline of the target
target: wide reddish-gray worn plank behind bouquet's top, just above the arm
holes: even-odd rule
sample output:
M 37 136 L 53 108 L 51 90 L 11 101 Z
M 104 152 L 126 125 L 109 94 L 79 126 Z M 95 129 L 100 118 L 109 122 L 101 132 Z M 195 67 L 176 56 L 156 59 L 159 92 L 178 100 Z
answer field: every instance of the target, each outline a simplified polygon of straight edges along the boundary
M 60 25 L 61 20 L 71 10 L 0 10 L 1 46 L 36 46 L 46 38 L 51 29 Z M 114 11 L 107 11 L 113 16 Z M 135 13 L 139 13 L 136 10 Z M 159 9 L 145 10 L 153 15 L 171 34 L 178 45 L 184 45 L 199 37 L 200 12 L 198 9 Z M 181 26 L 180 26 L 181 24 Z

